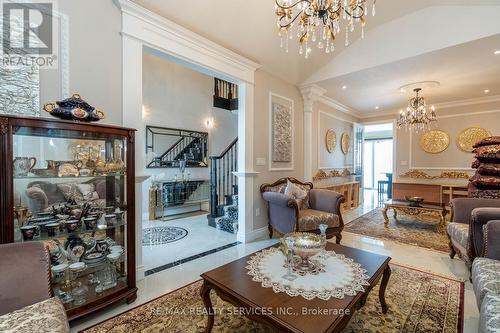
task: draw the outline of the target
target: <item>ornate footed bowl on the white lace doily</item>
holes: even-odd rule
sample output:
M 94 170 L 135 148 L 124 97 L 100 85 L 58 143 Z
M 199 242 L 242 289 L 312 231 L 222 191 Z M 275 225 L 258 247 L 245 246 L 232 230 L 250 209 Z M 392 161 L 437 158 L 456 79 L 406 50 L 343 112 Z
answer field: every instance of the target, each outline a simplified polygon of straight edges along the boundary
M 281 243 L 285 250 L 287 249 L 287 238 L 292 238 L 294 240 L 292 248 L 293 254 L 302 259 L 299 263 L 299 268 L 306 271 L 312 269 L 312 264 L 309 261 L 309 258 L 320 253 L 321 250 L 325 248 L 326 241 L 316 234 L 307 232 L 292 232 L 284 235 L 281 239 Z

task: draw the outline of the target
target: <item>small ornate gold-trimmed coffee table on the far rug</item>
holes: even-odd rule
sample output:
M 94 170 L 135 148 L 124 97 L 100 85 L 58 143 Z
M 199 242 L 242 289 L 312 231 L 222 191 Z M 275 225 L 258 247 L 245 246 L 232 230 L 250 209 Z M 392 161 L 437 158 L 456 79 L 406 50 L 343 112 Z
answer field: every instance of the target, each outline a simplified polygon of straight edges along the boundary
M 427 222 L 429 220 L 437 220 L 438 231 L 444 233 L 446 225 L 446 214 L 448 213 L 444 204 L 437 203 L 421 203 L 418 206 L 410 205 L 408 201 L 405 200 L 389 200 L 384 203 L 384 214 L 385 225 L 389 223 L 389 217 L 387 216 L 387 211 L 392 209 L 394 218 L 397 218 L 398 212 L 409 215 L 419 221 Z

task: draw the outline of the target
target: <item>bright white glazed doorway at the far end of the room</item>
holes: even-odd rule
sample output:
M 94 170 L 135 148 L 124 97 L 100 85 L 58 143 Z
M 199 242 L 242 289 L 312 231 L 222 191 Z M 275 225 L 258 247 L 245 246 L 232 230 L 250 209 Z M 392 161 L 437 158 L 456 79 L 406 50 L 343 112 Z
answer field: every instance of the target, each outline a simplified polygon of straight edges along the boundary
M 379 203 L 392 197 L 393 150 L 392 123 L 364 127 L 363 188 Z

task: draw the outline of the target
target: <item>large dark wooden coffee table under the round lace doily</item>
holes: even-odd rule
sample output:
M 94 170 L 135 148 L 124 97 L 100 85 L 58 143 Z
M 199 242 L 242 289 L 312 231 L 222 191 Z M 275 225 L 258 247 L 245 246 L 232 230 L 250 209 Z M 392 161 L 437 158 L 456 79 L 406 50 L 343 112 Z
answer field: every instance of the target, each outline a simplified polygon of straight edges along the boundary
M 327 249 L 354 259 L 367 270 L 370 286 L 365 287 L 365 292 L 355 296 L 346 295 L 343 299 L 332 297 L 328 301 L 275 293 L 272 288 L 263 288 L 260 282 L 252 281 L 245 268 L 252 256 L 249 255 L 201 275 L 203 286 L 200 294 L 209 314 L 205 332 L 212 331 L 215 318 L 210 300 L 211 290 L 222 300 L 243 310 L 239 313 L 276 332 L 340 332 L 354 311 L 365 304 L 370 290 L 382 279 L 379 299 L 381 311 L 386 313 L 385 289 L 391 275 L 391 258 L 332 243 L 327 244 Z

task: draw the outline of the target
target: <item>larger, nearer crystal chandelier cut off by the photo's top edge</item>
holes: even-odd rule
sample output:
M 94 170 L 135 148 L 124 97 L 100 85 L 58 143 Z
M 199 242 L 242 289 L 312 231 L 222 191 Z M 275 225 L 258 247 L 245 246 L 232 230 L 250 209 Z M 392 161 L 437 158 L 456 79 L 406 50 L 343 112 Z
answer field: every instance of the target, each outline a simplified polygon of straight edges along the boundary
M 361 25 L 361 38 L 365 37 L 364 26 L 368 15 L 367 0 L 275 0 L 280 46 L 288 53 L 289 41 L 294 35 L 299 39 L 299 53 L 306 58 L 311 46 L 316 44 L 326 53 L 333 52 L 333 42 L 345 29 L 345 45 L 349 45 L 349 33 L 355 23 Z M 375 16 L 375 2 L 372 15 Z M 294 27 L 296 28 L 294 29 Z

